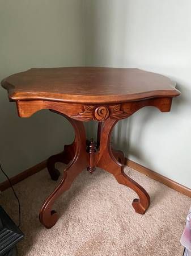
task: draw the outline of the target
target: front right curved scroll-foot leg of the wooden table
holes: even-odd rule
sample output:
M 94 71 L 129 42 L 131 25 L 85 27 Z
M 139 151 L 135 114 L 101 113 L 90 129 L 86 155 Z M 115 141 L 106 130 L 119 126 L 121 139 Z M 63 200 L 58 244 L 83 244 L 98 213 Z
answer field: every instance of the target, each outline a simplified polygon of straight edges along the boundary
M 144 214 L 150 205 L 148 193 L 141 185 L 125 174 L 124 165 L 117 161 L 112 152 L 111 134 L 112 128 L 116 123 L 117 121 L 114 119 L 107 119 L 101 127 L 100 149 L 96 156 L 97 167 L 103 168 L 113 174 L 118 183 L 133 189 L 139 196 L 139 199 L 133 200 L 133 208 L 135 212 Z

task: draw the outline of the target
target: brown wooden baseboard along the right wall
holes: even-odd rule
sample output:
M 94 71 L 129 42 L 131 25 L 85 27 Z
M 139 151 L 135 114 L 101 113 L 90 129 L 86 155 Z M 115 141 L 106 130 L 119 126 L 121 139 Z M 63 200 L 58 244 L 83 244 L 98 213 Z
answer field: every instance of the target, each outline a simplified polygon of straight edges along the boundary
M 168 179 L 167 177 L 165 177 L 161 174 L 158 174 L 157 172 L 154 172 L 144 166 L 141 166 L 141 164 L 135 163 L 129 159 L 126 159 L 126 165 L 137 170 L 138 172 L 141 172 L 142 174 L 145 174 L 146 176 L 150 177 L 151 179 L 157 180 L 160 183 L 167 185 L 169 188 L 172 188 L 188 197 L 191 197 L 191 189 L 185 187 L 184 185 L 177 183 L 176 181 Z

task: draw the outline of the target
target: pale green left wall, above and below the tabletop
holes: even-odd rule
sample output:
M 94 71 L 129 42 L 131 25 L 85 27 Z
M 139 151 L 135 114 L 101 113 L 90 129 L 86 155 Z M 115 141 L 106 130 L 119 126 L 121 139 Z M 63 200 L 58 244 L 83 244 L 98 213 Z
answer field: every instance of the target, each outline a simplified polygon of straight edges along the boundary
M 0 0 L 0 80 L 31 67 L 84 65 L 83 32 L 82 1 Z M 73 140 L 70 124 L 48 110 L 19 118 L 2 88 L 0 117 L 0 161 L 10 177 Z

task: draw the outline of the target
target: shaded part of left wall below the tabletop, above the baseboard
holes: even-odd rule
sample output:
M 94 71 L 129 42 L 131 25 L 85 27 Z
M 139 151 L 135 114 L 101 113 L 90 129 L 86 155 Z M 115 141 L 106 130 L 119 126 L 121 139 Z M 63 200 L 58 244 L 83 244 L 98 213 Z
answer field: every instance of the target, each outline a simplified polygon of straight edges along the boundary
M 15 102 L 9 102 L 5 89 L 0 92 L 0 161 L 7 175 L 17 175 L 72 142 L 73 128 L 61 115 L 41 110 L 29 118 L 19 118 Z M 4 180 L 0 174 L 0 182 Z

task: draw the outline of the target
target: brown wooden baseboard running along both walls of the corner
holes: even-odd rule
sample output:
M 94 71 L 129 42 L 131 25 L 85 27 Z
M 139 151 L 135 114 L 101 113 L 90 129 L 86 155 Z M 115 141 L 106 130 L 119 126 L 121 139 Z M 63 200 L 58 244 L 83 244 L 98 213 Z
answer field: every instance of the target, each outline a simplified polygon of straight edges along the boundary
M 21 172 L 20 174 L 12 177 L 10 179 L 11 184 L 14 185 L 16 183 L 19 183 L 19 181 L 27 179 L 27 177 L 43 170 L 44 168 L 46 168 L 46 163 L 47 163 L 47 160 L 45 160 L 39 164 L 36 164 L 36 166 L 33 166 L 33 167 L 27 169 L 26 171 Z M 167 185 L 169 188 L 172 188 L 188 197 L 191 197 L 191 189 L 185 187 L 184 185 L 177 183 L 176 181 L 168 179 L 167 177 L 165 177 L 161 174 L 158 174 L 157 172 L 154 172 L 144 166 L 141 166 L 141 164 L 135 163 L 130 159 L 126 159 L 126 165 L 137 170 L 138 172 L 141 172 L 142 174 L 145 174 L 146 176 L 150 177 L 151 179 L 157 180 L 160 183 Z M 10 184 L 9 184 L 8 180 L 0 183 L 0 191 L 4 191 L 5 189 L 7 189 L 9 187 L 10 187 Z

